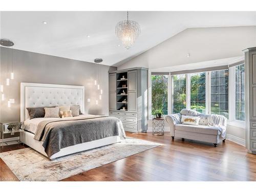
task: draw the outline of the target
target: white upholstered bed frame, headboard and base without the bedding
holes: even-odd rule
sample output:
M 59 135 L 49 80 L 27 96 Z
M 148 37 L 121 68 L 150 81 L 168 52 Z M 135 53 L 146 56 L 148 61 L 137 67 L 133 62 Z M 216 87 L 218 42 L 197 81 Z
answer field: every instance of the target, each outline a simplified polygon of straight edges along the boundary
M 20 121 L 25 121 L 29 118 L 28 111 L 26 110 L 28 107 L 56 105 L 80 105 L 81 112 L 84 113 L 84 87 L 62 84 L 20 83 Z M 44 147 L 42 147 L 42 142 L 34 140 L 33 138 L 34 134 L 25 131 L 21 140 L 42 155 L 47 156 Z M 49 158 L 52 160 L 57 157 L 120 141 L 121 140 L 118 136 L 113 136 L 81 143 L 62 148 L 60 152 Z

